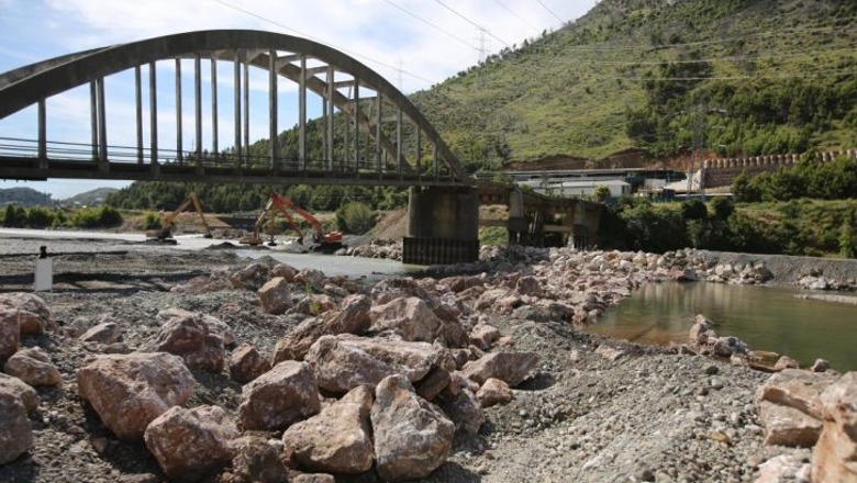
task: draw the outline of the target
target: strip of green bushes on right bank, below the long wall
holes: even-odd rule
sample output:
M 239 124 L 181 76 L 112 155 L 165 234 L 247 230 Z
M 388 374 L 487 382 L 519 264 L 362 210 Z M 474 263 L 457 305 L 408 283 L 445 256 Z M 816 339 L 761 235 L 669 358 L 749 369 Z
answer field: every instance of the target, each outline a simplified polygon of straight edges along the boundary
M 700 212 L 699 206 L 704 207 Z M 653 204 L 623 198 L 603 220 L 602 246 L 664 252 L 683 247 L 854 258 L 857 200 L 739 203 L 725 198 Z

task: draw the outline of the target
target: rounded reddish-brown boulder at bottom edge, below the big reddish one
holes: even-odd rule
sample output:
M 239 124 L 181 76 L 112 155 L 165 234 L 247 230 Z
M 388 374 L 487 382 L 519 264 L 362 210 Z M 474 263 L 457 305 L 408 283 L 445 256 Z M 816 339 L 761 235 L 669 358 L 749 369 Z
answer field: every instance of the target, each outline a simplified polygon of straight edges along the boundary
M 149 423 L 146 448 L 171 480 L 197 481 L 230 462 L 238 428 L 219 406 L 174 406 Z

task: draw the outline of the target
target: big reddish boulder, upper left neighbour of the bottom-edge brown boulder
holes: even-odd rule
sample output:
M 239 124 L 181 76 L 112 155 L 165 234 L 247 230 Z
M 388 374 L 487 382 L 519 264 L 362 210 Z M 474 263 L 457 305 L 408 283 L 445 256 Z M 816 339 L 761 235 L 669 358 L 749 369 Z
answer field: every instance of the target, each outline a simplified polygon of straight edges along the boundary
M 181 358 L 166 352 L 97 356 L 77 372 L 80 396 L 125 441 L 142 440 L 146 426 L 185 404 L 196 384 Z

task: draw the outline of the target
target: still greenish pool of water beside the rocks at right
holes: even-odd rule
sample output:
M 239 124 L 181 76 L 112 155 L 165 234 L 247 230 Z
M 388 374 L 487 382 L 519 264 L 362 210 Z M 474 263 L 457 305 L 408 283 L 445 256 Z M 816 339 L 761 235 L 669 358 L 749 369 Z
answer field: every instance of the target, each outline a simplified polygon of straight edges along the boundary
M 687 342 L 703 314 L 722 336 L 750 349 L 787 355 L 801 366 L 816 358 L 838 371 L 857 370 L 857 305 L 795 299 L 794 289 L 723 283 L 649 283 L 604 311 L 587 332 L 639 344 Z

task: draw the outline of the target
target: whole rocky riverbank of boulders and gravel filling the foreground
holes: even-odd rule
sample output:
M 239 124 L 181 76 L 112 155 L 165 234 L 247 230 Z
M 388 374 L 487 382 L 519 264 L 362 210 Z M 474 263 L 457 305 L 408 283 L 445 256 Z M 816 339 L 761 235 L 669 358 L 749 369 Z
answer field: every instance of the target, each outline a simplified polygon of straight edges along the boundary
M 768 263 L 485 248 L 364 283 L 227 250 L 94 251 L 44 302 L 0 304 L 2 481 L 801 481 L 837 461 L 765 443 L 769 374 L 739 351 L 575 329 L 641 283 L 764 283 Z M 3 262 L 3 291 L 25 287 L 32 260 Z M 847 447 L 831 438 L 854 408 L 825 404 L 819 437 Z

